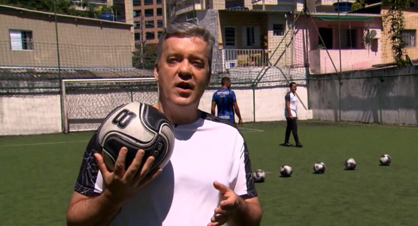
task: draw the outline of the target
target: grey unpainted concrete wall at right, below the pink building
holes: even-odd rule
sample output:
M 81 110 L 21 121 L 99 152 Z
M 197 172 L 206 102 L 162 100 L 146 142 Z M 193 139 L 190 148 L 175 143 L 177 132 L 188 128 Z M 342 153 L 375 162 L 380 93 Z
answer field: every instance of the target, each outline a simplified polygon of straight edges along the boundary
M 371 76 L 415 74 L 411 76 L 362 78 Z M 315 75 L 309 82 L 313 119 L 339 119 L 339 85 L 336 74 Z M 343 74 L 341 85 L 341 120 L 418 124 L 418 67 L 366 70 Z M 348 79 L 350 78 L 350 79 Z M 382 87 L 382 89 L 380 88 Z M 381 100 L 381 101 L 380 101 Z M 380 118 L 382 104 L 382 119 Z

